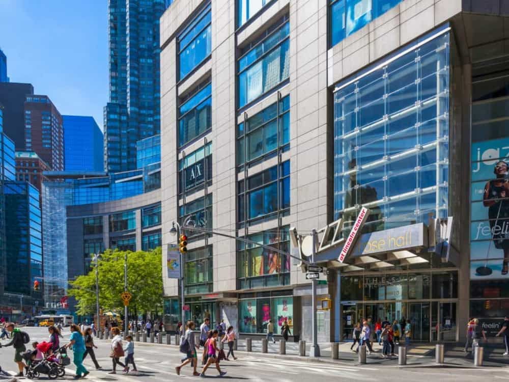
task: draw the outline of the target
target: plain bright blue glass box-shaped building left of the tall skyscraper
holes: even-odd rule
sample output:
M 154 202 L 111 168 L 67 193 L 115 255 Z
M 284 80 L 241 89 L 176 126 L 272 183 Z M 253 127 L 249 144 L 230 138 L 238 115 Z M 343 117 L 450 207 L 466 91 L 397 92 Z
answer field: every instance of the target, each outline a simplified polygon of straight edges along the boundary
M 104 136 L 93 117 L 62 116 L 66 171 L 103 171 Z

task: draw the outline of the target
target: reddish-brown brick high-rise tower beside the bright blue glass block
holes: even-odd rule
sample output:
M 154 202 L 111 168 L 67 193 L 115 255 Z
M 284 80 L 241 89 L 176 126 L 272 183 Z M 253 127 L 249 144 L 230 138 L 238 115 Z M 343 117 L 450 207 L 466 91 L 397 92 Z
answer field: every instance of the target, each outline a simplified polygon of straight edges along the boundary
M 35 151 L 53 171 L 65 165 L 62 116 L 45 95 L 25 99 L 25 150 Z

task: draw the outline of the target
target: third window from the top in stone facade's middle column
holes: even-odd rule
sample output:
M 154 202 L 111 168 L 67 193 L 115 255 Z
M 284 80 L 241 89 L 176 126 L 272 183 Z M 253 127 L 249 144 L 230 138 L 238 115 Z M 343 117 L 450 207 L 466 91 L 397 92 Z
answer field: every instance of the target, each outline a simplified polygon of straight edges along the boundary
M 247 144 L 246 144 L 247 140 Z M 239 123 L 237 128 L 237 165 L 264 160 L 277 154 L 277 149 L 290 148 L 290 96 L 266 107 Z

